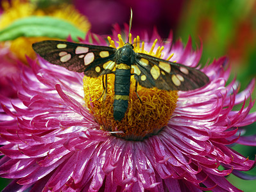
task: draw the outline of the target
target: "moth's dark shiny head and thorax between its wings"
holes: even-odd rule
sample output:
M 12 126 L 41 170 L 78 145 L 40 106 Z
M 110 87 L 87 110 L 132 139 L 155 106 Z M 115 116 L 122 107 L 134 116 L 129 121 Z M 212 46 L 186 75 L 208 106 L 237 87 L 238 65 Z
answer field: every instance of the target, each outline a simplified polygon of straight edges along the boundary
M 123 47 L 120 47 L 117 55 L 117 63 L 126 63 L 127 65 L 132 65 L 134 61 L 133 45 L 125 44 Z

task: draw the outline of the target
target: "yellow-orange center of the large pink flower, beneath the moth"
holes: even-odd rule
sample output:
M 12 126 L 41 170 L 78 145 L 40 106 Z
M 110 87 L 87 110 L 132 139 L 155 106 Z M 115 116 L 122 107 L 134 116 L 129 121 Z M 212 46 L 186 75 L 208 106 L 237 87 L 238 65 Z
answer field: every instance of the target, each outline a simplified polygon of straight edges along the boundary
M 124 42 L 121 35 L 118 35 L 119 45 L 115 46 L 114 41 L 108 37 L 110 47 L 123 47 Z M 129 37 L 131 43 L 131 35 Z M 157 40 L 153 43 L 149 52 L 144 50 L 144 42 L 140 45 L 139 36 L 133 40 L 133 51 L 142 52 L 160 58 L 164 47 L 158 47 L 153 52 Z M 172 56 L 172 55 L 171 55 Z M 171 58 L 171 56 L 169 58 Z M 168 58 L 168 59 L 169 59 Z M 103 93 L 103 78 L 84 77 L 83 89 L 85 92 L 85 103 L 94 115 L 96 121 L 101 125 L 101 129 L 109 131 L 117 137 L 125 140 L 143 140 L 151 135 L 157 134 L 171 118 L 176 108 L 178 92 L 159 90 L 158 88 L 144 88 L 140 85 L 135 93 L 135 79 L 131 76 L 130 95 L 128 109 L 121 121 L 114 120 L 114 74 L 107 75 L 107 96 L 101 97 Z M 141 100 L 140 100 L 141 99 Z

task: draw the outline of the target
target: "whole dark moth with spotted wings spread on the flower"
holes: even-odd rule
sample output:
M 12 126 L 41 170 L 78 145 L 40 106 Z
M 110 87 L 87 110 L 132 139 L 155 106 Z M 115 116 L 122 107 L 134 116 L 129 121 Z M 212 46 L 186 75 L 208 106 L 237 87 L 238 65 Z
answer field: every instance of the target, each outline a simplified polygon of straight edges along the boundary
M 131 26 L 132 12 L 130 28 Z M 118 121 L 123 119 L 128 108 L 131 76 L 136 80 L 136 93 L 138 83 L 145 88 L 188 91 L 209 82 L 209 78 L 196 68 L 138 53 L 133 51 L 133 48 L 129 42 L 119 49 L 56 40 L 33 44 L 34 51 L 50 63 L 74 72 L 84 72 L 85 76 L 89 77 L 103 76 L 104 79 L 105 75 L 105 94 L 107 74 L 115 74 L 113 106 L 114 119 Z

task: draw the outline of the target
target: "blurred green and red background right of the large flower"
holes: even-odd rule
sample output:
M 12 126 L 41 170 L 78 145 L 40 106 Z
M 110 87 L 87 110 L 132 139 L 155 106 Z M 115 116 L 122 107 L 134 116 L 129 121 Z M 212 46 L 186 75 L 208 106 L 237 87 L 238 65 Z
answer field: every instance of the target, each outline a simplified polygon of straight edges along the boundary
M 241 82 L 241 90 L 255 77 L 256 1 L 185 1 L 175 34 L 185 42 L 191 35 L 194 45 L 198 44 L 200 36 L 203 42 L 202 64 L 228 56 L 232 67 L 230 79 L 236 76 Z M 253 93 L 252 97 L 255 99 L 256 94 Z M 255 106 L 253 111 L 256 111 Z M 246 135 L 256 134 L 256 124 L 247 128 Z M 256 147 L 235 145 L 232 148 L 255 159 Z M 256 175 L 256 169 L 246 173 Z M 256 180 L 243 180 L 232 174 L 228 180 L 243 191 L 255 191 Z

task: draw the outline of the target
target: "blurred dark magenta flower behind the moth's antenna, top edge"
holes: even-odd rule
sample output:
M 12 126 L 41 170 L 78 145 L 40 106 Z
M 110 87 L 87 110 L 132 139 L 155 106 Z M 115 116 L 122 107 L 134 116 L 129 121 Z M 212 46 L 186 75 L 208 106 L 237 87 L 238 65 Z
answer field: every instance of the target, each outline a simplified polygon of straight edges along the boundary
M 122 25 L 129 20 L 130 8 L 132 8 L 133 32 L 146 30 L 151 35 L 153 27 L 156 26 L 160 35 L 164 37 L 168 36 L 170 29 L 175 31 L 177 28 L 184 3 L 183 0 L 74 0 L 73 2 L 81 13 L 87 15 L 94 33 L 109 34 L 113 24 Z

